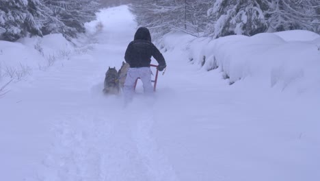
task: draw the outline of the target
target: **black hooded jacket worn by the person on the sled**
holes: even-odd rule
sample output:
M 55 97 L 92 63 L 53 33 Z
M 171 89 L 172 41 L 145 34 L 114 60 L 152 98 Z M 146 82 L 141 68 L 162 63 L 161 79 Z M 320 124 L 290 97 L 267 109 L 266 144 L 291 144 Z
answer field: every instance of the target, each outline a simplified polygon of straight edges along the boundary
M 165 59 L 159 49 L 151 43 L 150 32 L 146 27 L 139 27 L 135 39 L 126 48 L 124 60 L 131 68 L 150 67 L 151 56 L 157 60 L 159 67 L 165 67 Z

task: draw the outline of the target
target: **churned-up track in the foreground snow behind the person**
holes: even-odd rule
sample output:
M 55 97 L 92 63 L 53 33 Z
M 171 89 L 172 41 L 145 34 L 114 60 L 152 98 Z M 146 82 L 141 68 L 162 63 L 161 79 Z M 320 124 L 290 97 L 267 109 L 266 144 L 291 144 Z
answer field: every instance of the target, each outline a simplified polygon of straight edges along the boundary
M 127 112 L 133 121 L 115 113 L 118 119 L 108 119 L 105 110 L 68 113 L 68 121 L 55 128 L 59 141 L 45 161 L 47 180 L 175 180 L 171 169 L 163 169 L 170 165 L 148 134 L 152 114 Z

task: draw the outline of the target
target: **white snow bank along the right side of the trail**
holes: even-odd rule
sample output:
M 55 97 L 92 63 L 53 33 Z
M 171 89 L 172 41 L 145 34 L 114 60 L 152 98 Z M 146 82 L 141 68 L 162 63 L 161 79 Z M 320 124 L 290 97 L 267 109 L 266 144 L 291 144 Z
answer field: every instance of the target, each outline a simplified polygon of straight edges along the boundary
M 320 38 L 317 37 L 320 36 L 313 32 L 289 31 L 213 40 L 172 33 L 164 36 L 161 47 L 169 50 L 179 47 L 189 54 L 192 63 L 204 71 L 218 69 L 230 84 L 255 80 L 280 90 L 290 88 L 297 93 L 319 93 L 320 50 L 317 45 Z

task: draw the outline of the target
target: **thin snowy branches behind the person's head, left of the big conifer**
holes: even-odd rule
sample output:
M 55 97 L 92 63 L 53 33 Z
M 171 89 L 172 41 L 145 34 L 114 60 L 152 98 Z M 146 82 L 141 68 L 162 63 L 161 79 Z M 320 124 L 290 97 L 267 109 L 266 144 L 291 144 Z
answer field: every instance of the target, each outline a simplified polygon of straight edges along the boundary
M 157 37 L 170 31 L 182 31 L 200 36 L 206 25 L 206 8 L 211 0 L 134 1 L 131 10 L 137 23 L 148 27 Z

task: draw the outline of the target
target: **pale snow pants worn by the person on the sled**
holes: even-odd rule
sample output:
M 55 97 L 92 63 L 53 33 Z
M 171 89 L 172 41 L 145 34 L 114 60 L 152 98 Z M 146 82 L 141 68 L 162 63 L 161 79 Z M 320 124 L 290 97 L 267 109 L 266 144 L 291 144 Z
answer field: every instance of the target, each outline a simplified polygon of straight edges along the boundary
M 124 101 L 131 101 L 134 93 L 135 80 L 140 78 L 144 86 L 144 93 L 151 95 L 153 93 L 153 86 L 151 83 L 150 67 L 129 68 L 126 73 L 126 82 L 124 82 Z

